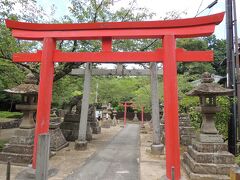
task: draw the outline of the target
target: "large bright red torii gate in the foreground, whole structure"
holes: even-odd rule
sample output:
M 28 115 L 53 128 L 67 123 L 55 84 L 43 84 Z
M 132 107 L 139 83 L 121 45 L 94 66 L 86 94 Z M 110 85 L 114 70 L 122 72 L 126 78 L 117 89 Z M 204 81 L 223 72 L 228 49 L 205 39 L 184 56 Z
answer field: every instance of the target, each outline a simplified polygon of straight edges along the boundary
M 35 24 L 6 20 L 18 39 L 43 41 L 37 53 L 16 53 L 14 62 L 41 62 L 35 129 L 33 168 L 36 168 L 38 135 L 49 130 L 54 62 L 162 62 L 164 71 L 164 117 L 166 135 L 166 175 L 180 179 L 178 94 L 176 62 L 212 61 L 212 51 L 185 51 L 176 48 L 176 38 L 209 36 L 224 13 L 198 18 L 82 24 Z M 112 39 L 161 38 L 163 47 L 154 52 L 112 52 Z M 102 52 L 61 52 L 57 40 L 102 40 Z

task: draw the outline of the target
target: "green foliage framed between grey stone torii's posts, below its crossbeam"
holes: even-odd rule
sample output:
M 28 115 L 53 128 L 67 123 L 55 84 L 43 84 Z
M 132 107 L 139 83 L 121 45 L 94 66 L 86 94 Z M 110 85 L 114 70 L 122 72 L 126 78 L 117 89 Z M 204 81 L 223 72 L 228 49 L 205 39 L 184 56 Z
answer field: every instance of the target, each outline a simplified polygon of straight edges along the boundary
M 148 77 L 98 77 L 93 79 L 91 102 L 95 102 L 98 84 L 98 102 L 110 102 L 117 107 L 120 102 L 134 100 L 141 107 L 148 97 Z M 148 87 L 147 87 L 148 86 Z M 139 107 L 139 108 L 140 108 Z

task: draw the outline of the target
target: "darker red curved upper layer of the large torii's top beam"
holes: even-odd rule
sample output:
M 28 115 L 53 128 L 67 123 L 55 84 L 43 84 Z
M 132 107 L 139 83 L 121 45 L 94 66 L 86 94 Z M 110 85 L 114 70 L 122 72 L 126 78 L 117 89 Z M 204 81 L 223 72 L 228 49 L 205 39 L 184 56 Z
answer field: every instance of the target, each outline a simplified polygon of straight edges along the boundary
M 32 31 L 72 31 L 72 30 L 101 30 L 101 29 L 152 29 L 152 28 L 175 28 L 186 26 L 202 26 L 206 24 L 219 24 L 224 13 L 210 16 L 165 20 L 165 21 L 144 21 L 144 22 L 97 22 L 81 24 L 37 24 L 6 20 L 6 25 L 11 29 L 22 29 Z

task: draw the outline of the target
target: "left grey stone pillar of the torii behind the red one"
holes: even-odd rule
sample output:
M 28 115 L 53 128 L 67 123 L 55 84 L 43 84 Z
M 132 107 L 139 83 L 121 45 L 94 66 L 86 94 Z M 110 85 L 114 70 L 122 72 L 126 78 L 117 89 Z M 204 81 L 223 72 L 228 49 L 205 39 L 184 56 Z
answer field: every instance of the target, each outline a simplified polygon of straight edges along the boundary
M 87 119 L 88 119 L 90 90 L 91 90 L 91 64 L 86 63 L 83 99 L 82 99 L 81 116 L 80 116 L 80 123 L 79 123 L 79 134 L 78 134 L 78 139 L 75 141 L 76 150 L 85 150 L 87 148 L 86 133 L 87 133 Z

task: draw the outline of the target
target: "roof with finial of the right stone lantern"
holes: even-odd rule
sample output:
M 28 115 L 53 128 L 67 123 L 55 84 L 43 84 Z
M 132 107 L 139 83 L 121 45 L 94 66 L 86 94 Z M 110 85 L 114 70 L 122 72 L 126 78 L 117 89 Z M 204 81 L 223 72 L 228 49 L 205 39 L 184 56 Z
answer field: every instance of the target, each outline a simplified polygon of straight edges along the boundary
M 233 90 L 226 89 L 221 85 L 214 83 L 211 74 L 205 72 L 202 74 L 201 84 L 187 93 L 188 96 L 225 96 L 231 95 Z

